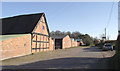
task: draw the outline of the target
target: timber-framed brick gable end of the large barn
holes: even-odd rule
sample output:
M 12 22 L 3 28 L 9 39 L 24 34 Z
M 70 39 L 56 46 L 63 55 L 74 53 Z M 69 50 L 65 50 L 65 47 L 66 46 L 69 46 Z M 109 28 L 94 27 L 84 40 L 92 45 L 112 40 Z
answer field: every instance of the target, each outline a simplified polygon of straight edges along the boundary
M 48 35 L 48 30 L 47 30 L 47 26 L 45 24 L 44 16 L 41 17 L 41 19 L 38 22 L 38 25 L 37 25 L 36 29 L 33 32 Z M 40 48 L 40 49 L 33 49 L 32 53 L 49 51 L 50 50 L 50 48 L 51 48 L 50 47 L 50 42 L 52 42 L 52 41 L 50 40 L 49 37 L 34 34 L 33 35 L 33 40 L 34 41 L 42 41 L 42 42 L 32 42 L 32 48 Z M 44 42 L 49 42 L 49 43 L 44 43 Z

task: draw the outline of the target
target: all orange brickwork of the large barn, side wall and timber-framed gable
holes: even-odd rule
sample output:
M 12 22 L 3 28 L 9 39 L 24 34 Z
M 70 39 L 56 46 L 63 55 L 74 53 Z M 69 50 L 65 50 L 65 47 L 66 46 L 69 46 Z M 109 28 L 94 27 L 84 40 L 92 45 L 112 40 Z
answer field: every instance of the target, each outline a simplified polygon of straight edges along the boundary
M 1 41 L 0 44 L 2 43 L 2 59 L 23 56 L 35 52 L 54 50 L 54 40 L 48 36 L 49 28 L 46 24 L 45 17 L 42 15 L 36 27 L 31 32 L 33 33 L 32 35 L 28 34 L 25 36 L 19 36 Z M 38 35 L 38 33 L 43 35 Z M 31 47 L 37 49 L 31 49 Z

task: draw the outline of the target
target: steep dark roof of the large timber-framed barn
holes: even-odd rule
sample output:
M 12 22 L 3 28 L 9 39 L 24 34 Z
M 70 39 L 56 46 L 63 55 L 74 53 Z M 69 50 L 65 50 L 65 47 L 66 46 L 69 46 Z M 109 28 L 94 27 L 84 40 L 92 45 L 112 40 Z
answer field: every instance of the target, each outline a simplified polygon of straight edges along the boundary
M 44 15 L 44 13 L 28 14 L 28 15 L 20 15 L 20 16 L 14 16 L 9 18 L 3 18 L 1 19 L 2 34 L 9 35 L 9 34 L 31 33 L 34 30 L 35 26 L 37 25 L 42 15 Z M 48 25 L 47 25 L 47 29 L 48 29 Z M 48 32 L 49 32 L 49 29 L 48 29 Z

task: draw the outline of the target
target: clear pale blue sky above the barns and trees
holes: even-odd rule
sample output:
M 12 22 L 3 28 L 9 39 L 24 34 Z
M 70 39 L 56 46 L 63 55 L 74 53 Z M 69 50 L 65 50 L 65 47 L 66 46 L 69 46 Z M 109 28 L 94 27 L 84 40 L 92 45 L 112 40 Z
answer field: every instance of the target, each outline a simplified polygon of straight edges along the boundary
M 50 31 L 79 31 L 100 38 L 106 27 L 109 39 L 115 40 L 118 35 L 118 4 L 115 2 L 113 8 L 112 4 L 113 2 L 2 2 L 2 18 L 44 12 Z

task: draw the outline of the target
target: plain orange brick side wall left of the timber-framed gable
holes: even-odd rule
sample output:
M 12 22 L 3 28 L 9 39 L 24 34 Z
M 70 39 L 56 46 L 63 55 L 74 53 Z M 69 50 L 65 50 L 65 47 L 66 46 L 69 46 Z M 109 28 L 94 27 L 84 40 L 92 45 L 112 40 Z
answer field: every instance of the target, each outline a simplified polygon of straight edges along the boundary
M 1 60 L 31 54 L 30 37 L 31 35 L 28 34 L 1 41 Z

